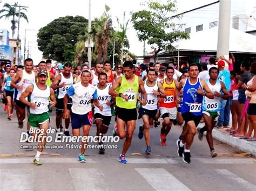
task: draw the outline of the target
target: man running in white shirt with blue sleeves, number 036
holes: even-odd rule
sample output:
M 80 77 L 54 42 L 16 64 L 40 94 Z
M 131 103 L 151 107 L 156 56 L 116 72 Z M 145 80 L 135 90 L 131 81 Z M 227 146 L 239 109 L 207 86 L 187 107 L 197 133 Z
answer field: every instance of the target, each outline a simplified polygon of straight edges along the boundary
M 71 107 L 71 125 L 73 136 L 80 136 L 80 128 L 83 126 L 83 136 L 89 136 L 90 127 L 92 124 L 91 115 L 91 99 L 93 98 L 95 106 L 100 111 L 103 110 L 103 106 L 98 102 L 98 95 L 95 86 L 92 86 L 89 81 L 91 74 L 88 70 L 82 72 L 82 80 L 76 84 L 73 84 L 64 96 L 64 113 L 63 118 L 69 119 L 70 110 L 68 109 L 69 97 L 72 96 Z M 79 162 L 86 162 L 84 157 L 85 148 L 87 142 L 82 141 L 82 147 L 80 154 L 78 155 Z

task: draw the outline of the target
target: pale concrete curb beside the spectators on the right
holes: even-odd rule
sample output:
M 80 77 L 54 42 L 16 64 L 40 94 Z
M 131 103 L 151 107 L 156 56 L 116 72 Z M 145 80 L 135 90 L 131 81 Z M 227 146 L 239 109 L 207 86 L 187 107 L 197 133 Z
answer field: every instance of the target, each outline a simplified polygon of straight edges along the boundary
M 220 132 L 215 129 L 212 130 L 212 137 L 219 140 L 220 142 L 239 148 L 241 151 L 250 152 L 252 155 L 256 156 L 256 144 L 229 136 L 226 133 Z

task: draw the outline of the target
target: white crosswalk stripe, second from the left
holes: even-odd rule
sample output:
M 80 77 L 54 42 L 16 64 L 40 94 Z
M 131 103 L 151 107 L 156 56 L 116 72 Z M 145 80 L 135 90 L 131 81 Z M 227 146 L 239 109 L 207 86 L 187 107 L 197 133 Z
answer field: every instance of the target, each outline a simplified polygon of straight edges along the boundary
M 97 168 L 69 168 L 76 190 L 110 190 L 104 173 Z

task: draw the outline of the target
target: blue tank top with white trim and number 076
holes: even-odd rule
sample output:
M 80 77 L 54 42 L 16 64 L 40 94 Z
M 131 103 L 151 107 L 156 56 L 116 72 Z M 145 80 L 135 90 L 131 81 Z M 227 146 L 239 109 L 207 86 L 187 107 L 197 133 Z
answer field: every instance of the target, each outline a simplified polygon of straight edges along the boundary
M 191 84 L 189 77 L 186 79 L 185 85 L 183 87 L 183 104 L 181 106 L 181 114 L 185 112 L 191 112 L 196 116 L 203 115 L 202 113 L 202 103 L 203 95 L 198 94 L 197 89 L 199 86 L 203 86 L 200 83 L 200 80 L 197 79 L 195 84 Z

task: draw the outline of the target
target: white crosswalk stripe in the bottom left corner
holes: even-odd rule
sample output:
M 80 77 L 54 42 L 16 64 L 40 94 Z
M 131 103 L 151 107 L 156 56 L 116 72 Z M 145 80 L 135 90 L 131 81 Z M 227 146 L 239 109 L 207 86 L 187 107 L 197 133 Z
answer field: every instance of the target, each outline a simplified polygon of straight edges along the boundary
M 0 190 L 33 190 L 33 169 L 0 169 Z

